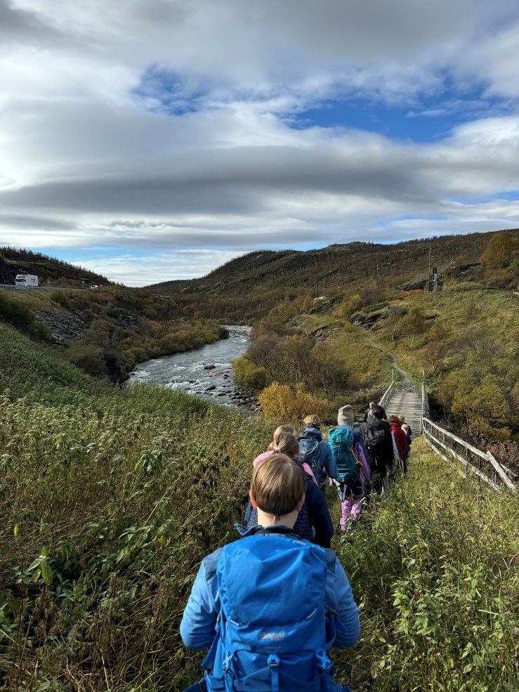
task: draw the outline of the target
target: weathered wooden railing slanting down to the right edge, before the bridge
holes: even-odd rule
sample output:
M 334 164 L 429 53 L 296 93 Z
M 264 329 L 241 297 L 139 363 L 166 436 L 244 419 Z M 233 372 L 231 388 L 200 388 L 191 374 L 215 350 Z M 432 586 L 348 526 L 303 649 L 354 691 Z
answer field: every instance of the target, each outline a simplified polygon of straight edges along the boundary
M 515 474 L 505 466 L 499 464 L 492 452 L 482 452 L 470 443 L 462 440 L 438 424 L 433 423 L 428 417 L 422 417 L 422 431 L 426 443 L 442 459 L 450 464 L 459 464 L 464 467 L 465 473 L 459 468 L 461 475 L 466 477 L 468 472 L 475 474 L 494 490 L 502 490 L 506 485 L 515 491 L 513 478 Z

